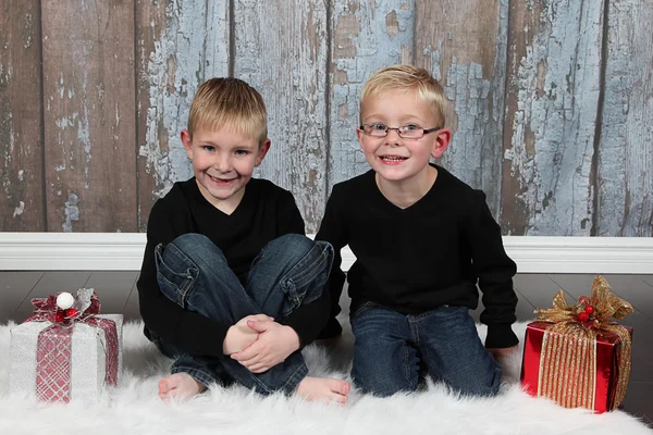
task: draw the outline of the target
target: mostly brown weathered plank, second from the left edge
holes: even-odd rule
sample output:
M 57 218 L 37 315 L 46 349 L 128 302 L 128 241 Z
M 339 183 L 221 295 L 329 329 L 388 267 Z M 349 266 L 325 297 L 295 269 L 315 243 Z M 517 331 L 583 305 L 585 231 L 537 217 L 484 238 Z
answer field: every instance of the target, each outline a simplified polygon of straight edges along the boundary
M 134 232 L 133 3 L 41 8 L 48 228 Z

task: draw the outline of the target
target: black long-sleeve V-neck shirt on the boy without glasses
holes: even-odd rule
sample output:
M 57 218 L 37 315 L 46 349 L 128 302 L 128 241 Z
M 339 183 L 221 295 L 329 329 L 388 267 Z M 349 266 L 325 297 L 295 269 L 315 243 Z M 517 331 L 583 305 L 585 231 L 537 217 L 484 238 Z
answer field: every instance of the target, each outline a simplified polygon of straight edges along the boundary
M 159 289 L 155 248 L 176 237 L 198 233 L 224 253 L 230 268 L 243 281 L 252 260 L 271 240 L 285 234 L 305 234 L 304 220 L 293 195 L 266 179 L 251 178 L 232 214 L 207 201 L 195 178 L 175 183 L 150 212 L 147 245 L 138 278 L 140 314 L 147 330 L 165 343 L 196 356 L 222 356 L 222 344 L 231 325 L 184 310 Z M 303 346 L 311 343 L 329 315 L 329 294 L 296 309 L 287 319 Z

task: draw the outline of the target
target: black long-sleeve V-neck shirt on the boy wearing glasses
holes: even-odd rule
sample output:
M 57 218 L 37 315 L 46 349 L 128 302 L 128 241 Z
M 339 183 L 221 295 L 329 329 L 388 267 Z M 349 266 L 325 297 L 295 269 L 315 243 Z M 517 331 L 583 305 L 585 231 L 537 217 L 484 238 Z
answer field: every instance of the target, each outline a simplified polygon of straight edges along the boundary
M 316 236 L 336 252 L 329 284 L 330 324 L 340 312 L 344 282 L 340 250 L 349 245 L 356 256 L 347 273 L 352 312 L 366 301 L 404 314 L 443 304 L 476 309 L 478 283 L 485 308 L 480 320 L 488 325 L 485 346 L 514 346 L 519 341 L 510 327 L 517 268 L 504 250 L 501 228 L 482 191 L 435 167 L 432 188 L 406 209 L 383 196 L 374 171 L 333 187 Z

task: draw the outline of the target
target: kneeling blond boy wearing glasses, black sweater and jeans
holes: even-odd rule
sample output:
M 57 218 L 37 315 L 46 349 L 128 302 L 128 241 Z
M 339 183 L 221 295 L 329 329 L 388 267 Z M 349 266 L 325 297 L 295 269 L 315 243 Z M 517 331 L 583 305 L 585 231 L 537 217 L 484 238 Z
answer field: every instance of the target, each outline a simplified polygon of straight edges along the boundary
M 352 377 L 380 396 L 416 390 L 424 374 L 464 394 L 494 395 L 501 368 L 491 353 L 508 353 L 518 343 L 510 326 L 516 265 L 485 196 L 430 163 L 449 144 L 445 102 L 426 70 L 395 65 L 372 75 L 357 130 L 372 169 L 333 187 L 316 237 L 335 251 L 332 313 L 321 337 L 341 331 L 340 251 L 349 245 Z M 478 306 L 477 283 L 485 347 L 468 312 Z

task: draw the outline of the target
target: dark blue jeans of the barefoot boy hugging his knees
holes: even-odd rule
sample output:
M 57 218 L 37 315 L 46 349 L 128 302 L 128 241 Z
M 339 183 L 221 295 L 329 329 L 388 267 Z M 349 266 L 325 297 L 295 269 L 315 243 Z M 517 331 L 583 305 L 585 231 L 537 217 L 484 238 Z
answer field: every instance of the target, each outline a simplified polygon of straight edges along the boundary
M 329 277 L 333 248 L 298 234 L 279 237 L 256 257 L 245 286 L 220 248 L 200 234 L 185 234 L 167 246 L 159 245 L 155 256 L 159 287 L 170 300 L 233 325 L 260 313 L 279 322 L 297 307 L 318 299 Z M 187 373 L 205 385 L 235 381 L 263 395 L 278 390 L 289 395 L 308 373 L 300 351 L 263 373 L 251 373 L 229 356 L 192 356 L 163 343 L 152 332 L 150 335 L 162 353 L 175 359 L 172 373 Z

